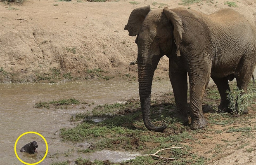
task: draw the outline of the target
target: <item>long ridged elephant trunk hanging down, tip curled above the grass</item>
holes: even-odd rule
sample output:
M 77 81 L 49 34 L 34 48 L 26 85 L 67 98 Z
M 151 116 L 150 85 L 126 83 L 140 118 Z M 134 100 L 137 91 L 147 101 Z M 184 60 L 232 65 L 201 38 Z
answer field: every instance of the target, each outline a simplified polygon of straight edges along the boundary
M 154 63 L 146 63 L 148 61 L 146 58 L 140 58 L 138 56 L 138 78 L 139 78 L 139 94 L 140 94 L 140 104 L 142 109 L 143 122 L 147 129 L 154 130 L 156 132 L 163 132 L 167 127 L 166 125 L 155 126 L 150 120 L 150 98 L 151 98 L 151 88 L 152 80 L 154 76 L 154 70 L 159 62 L 160 58 L 154 59 Z

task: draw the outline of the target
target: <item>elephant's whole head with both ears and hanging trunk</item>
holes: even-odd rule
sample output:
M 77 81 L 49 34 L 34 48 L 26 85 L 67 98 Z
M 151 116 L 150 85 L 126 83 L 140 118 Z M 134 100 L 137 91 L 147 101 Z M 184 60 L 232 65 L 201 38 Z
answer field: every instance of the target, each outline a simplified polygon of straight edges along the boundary
M 155 126 L 150 120 L 150 98 L 154 70 L 162 56 L 180 56 L 183 25 L 180 17 L 165 7 L 152 10 L 150 6 L 134 9 L 124 28 L 136 36 L 139 94 L 142 116 L 149 130 L 162 132 L 167 126 Z

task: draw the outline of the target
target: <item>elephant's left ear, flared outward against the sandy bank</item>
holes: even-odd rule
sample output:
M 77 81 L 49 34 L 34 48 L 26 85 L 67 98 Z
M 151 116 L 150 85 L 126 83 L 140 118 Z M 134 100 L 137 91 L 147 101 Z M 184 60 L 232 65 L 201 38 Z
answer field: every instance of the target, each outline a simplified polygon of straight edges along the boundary
M 139 34 L 142 23 L 150 10 L 150 5 L 133 9 L 124 30 L 128 30 L 130 36 Z

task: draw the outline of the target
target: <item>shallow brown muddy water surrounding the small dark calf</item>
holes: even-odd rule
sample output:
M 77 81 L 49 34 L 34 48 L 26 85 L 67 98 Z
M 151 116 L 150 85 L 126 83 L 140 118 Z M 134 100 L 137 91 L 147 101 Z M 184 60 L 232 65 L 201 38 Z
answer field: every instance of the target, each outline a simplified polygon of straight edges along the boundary
M 154 93 L 170 92 L 169 81 L 153 83 Z M 72 143 L 64 143 L 58 136 L 58 131 L 63 127 L 72 127 L 69 122 L 71 115 L 84 112 L 85 109 L 73 107 L 72 109 L 37 109 L 34 104 L 42 101 L 75 98 L 85 102 L 97 104 L 119 102 L 121 99 L 138 97 L 137 82 L 121 81 L 86 81 L 67 82 L 55 84 L 0 84 L 0 164 L 21 165 L 14 153 L 16 139 L 24 132 L 33 131 L 42 135 L 48 144 L 47 157 L 40 165 L 49 165 L 52 161 L 73 160 L 78 158 L 78 149 L 83 147 Z M 37 141 L 38 154 L 30 155 L 19 150 L 25 144 Z M 80 144 L 81 145 L 81 144 Z M 36 134 L 26 134 L 17 142 L 17 154 L 26 163 L 40 161 L 46 151 L 46 145 L 42 137 Z M 75 156 L 75 157 L 74 157 Z M 113 162 L 133 158 L 130 153 L 115 151 L 100 151 L 88 155 L 80 155 L 82 158 L 93 160 L 111 160 Z

